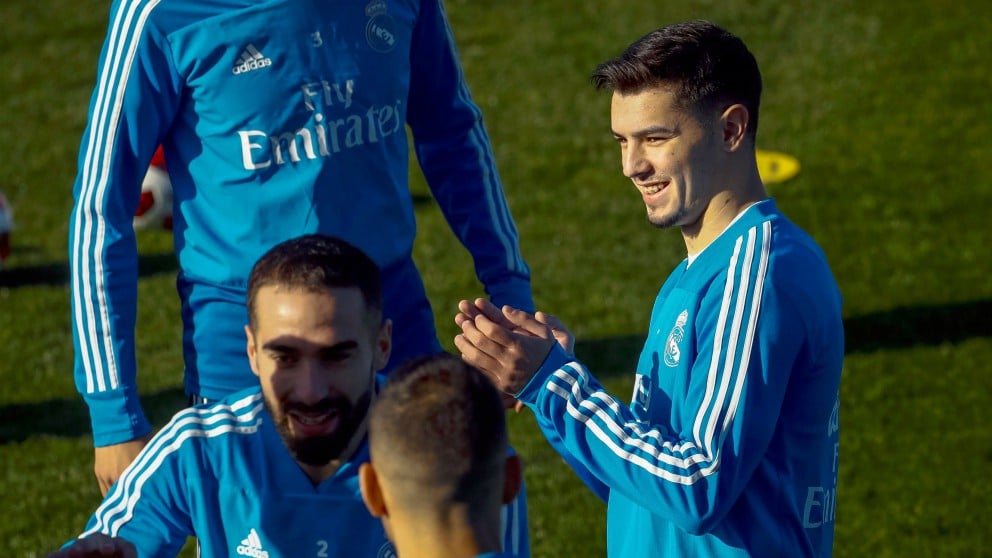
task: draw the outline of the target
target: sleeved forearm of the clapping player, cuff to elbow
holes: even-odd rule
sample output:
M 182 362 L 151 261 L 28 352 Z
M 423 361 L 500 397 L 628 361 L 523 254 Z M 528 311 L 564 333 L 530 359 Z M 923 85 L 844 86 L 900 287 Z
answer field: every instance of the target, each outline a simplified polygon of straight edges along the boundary
M 718 494 L 721 455 L 706 455 L 668 425 L 635 417 L 581 363 L 555 347 L 518 398 L 580 463 L 618 491 L 690 532 L 706 532 L 730 507 Z

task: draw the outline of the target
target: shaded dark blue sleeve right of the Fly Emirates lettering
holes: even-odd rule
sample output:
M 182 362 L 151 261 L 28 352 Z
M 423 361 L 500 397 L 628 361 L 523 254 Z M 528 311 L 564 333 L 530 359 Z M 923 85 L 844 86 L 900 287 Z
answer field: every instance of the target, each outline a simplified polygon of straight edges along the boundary
M 532 312 L 530 270 L 441 0 L 421 2 L 410 64 L 407 122 L 431 192 L 492 301 Z

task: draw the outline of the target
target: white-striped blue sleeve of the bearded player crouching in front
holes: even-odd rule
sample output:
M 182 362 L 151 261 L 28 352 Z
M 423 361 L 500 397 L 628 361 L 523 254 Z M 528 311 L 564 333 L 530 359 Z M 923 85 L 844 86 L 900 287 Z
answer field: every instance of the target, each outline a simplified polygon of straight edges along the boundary
M 79 536 L 102 533 L 130 541 L 139 556 L 176 556 L 193 536 L 187 479 L 198 471 L 184 465 L 183 444 L 191 435 L 189 413 L 177 415 L 138 454 L 111 487 Z M 188 449 L 188 448 L 187 448 Z

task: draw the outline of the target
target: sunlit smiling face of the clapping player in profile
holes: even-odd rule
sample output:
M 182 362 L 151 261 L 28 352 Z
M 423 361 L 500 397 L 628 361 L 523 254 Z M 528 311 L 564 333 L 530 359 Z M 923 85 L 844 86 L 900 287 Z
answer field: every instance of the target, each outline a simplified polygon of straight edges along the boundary
M 667 87 L 614 93 L 611 115 L 623 173 L 641 193 L 648 221 L 657 227 L 698 223 L 718 186 L 720 127 L 679 107 Z

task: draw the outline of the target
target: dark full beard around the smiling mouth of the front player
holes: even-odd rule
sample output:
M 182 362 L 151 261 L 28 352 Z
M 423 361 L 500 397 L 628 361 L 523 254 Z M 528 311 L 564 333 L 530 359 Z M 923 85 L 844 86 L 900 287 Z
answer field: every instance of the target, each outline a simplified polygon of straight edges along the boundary
M 280 401 L 281 409 L 278 412 L 268 397 L 264 398 L 264 401 L 265 408 L 275 422 L 276 431 L 293 459 L 306 465 L 320 467 L 339 458 L 348 446 L 368 414 L 372 402 L 372 390 L 366 391 L 354 403 L 341 396 L 326 397 L 314 405 Z M 334 412 L 340 418 L 337 427 L 324 436 L 295 436 L 289 427 L 289 413 L 292 411 L 318 414 Z

